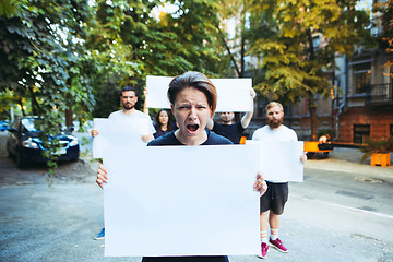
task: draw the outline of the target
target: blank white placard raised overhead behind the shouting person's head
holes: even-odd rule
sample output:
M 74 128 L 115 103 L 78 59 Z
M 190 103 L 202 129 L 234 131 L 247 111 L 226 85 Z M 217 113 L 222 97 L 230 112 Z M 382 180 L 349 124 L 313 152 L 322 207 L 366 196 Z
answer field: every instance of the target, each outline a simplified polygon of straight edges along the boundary
M 148 108 L 170 108 L 167 91 L 172 79 L 171 76 L 147 75 L 146 106 Z M 211 79 L 211 81 L 217 90 L 216 111 L 251 111 L 251 79 Z

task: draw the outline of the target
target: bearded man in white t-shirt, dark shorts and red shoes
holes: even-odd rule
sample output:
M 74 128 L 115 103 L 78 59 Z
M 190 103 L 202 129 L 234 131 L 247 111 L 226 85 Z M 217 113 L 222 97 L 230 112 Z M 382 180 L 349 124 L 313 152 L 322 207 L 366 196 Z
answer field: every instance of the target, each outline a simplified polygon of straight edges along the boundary
M 265 107 L 267 124 L 258 129 L 252 140 L 258 141 L 298 141 L 294 130 L 285 127 L 284 108 L 277 102 L 271 102 Z M 306 155 L 300 158 L 306 162 Z M 265 258 L 269 250 L 269 242 L 281 252 L 288 250 L 278 238 L 279 215 L 284 212 L 284 205 L 288 199 L 288 181 L 266 180 L 267 191 L 261 196 L 260 221 L 261 221 L 261 258 Z M 270 224 L 271 237 L 267 239 L 267 227 Z

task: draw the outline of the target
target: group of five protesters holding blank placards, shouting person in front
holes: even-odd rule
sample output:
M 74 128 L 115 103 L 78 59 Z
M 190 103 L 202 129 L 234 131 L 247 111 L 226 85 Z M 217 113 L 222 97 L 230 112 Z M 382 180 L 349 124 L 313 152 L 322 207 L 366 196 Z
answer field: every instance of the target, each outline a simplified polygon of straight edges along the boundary
M 217 103 L 217 93 L 213 83 L 200 72 L 186 72 L 176 76 L 169 84 L 167 92 L 171 106 L 171 112 L 176 124 L 169 121 L 169 112 L 162 110 L 157 115 L 155 130 L 150 127 L 151 133 L 141 139 L 147 146 L 162 145 L 230 145 L 239 144 L 243 131 L 248 128 L 253 111 L 248 111 L 240 121 L 235 121 L 234 112 L 222 112 L 222 122 L 213 121 L 213 116 Z M 255 92 L 251 88 L 252 100 Z M 109 118 L 138 118 L 148 117 L 134 108 L 138 102 L 136 91 L 132 87 L 121 90 L 120 100 L 122 109 L 110 114 Z M 253 106 L 252 106 L 253 108 Z M 275 140 L 275 141 L 297 141 L 294 130 L 283 124 L 284 109 L 279 103 L 272 102 L 266 108 L 267 124 L 258 129 L 252 140 Z M 150 121 L 151 122 L 151 121 Z M 92 131 L 92 135 L 98 134 L 97 130 Z M 153 140 L 153 135 L 155 140 Z M 305 162 L 305 155 L 301 160 Z M 103 188 L 109 181 L 110 175 L 102 165 L 97 171 L 97 184 Z M 265 258 L 269 247 L 274 247 L 278 251 L 287 252 L 278 238 L 279 216 L 283 214 L 284 205 L 288 199 L 287 181 L 265 181 L 261 174 L 255 174 L 253 189 L 261 194 L 260 199 L 260 222 L 261 222 L 261 255 Z M 271 235 L 269 238 L 269 225 Z M 104 229 L 103 229 L 104 230 Z M 159 257 L 143 258 L 142 261 L 228 261 L 226 255 L 216 257 Z

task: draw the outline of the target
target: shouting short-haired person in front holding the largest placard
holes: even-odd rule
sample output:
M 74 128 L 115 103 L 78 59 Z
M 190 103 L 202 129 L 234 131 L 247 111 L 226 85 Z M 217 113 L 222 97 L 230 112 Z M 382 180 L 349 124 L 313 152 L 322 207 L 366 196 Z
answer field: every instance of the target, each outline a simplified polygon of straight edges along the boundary
M 179 129 L 153 140 L 147 146 L 199 146 L 230 145 L 228 139 L 205 129 L 212 119 L 217 102 L 217 93 L 213 83 L 200 72 L 186 72 L 176 76 L 169 84 L 168 98 Z M 198 156 L 190 156 L 190 163 L 198 163 Z M 176 159 L 172 165 L 176 165 Z M 203 165 L 203 163 L 202 163 Z M 184 172 L 187 174 L 187 172 Z M 97 184 L 108 182 L 108 174 L 102 165 L 97 171 Z M 195 178 L 198 179 L 198 178 Z M 254 190 L 261 194 L 266 190 L 266 183 L 257 176 Z M 191 225 L 192 226 L 192 225 Z M 226 255 L 209 257 L 147 257 L 142 262 L 227 262 Z

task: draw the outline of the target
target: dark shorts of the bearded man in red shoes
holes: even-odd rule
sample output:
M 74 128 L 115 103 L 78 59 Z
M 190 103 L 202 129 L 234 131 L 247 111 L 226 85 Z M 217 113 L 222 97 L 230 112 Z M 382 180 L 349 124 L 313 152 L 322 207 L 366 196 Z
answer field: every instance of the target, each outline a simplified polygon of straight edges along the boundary
M 266 183 L 267 190 L 260 199 L 260 212 L 272 210 L 274 214 L 281 215 L 288 200 L 288 182 L 272 183 L 266 181 Z

